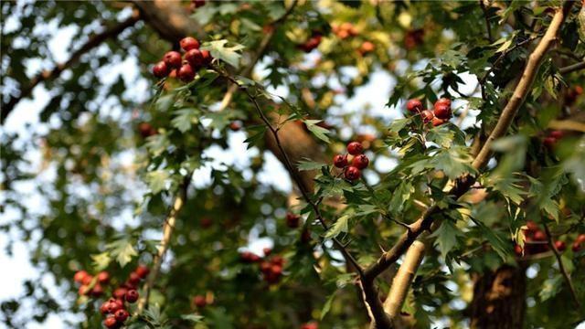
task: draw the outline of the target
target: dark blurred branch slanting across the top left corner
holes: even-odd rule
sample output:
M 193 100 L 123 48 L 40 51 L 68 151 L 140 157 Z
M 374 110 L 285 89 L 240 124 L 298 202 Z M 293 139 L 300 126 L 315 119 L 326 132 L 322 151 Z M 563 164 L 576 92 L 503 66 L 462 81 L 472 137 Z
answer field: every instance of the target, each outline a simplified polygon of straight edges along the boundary
M 23 87 L 18 96 L 11 97 L 10 100 L 2 104 L 2 111 L 0 113 L 0 123 L 4 124 L 5 119 L 8 117 L 10 112 L 14 110 L 16 104 L 21 101 L 23 98 L 27 98 L 30 93 L 37 87 L 37 85 L 46 80 L 53 80 L 56 79 L 62 71 L 65 69 L 69 69 L 71 65 L 75 64 L 81 57 L 81 55 L 85 54 L 86 52 L 90 51 L 93 48 L 96 48 L 101 45 L 103 41 L 110 37 L 117 37 L 123 30 L 127 27 L 132 27 L 140 18 L 140 14 L 138 11 L 133 11 L 132 16 L 128 17 L 121 23 L 118 23 L 114 27 L 107 28 L 100 34 L 97 34 L 81 46 L 81 48 L 77 49 L 71 57 L 64 63 L 57 64 L 55 69 L 51 70 L 44 70 L 37 74 L 33 79 L 30 80 L 27 86 Z

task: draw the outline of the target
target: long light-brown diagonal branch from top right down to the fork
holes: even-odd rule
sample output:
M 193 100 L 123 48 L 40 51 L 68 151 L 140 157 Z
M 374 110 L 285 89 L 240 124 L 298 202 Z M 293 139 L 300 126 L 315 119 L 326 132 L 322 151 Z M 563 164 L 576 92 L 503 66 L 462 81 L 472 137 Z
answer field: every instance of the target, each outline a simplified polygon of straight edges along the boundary
M 516 112 L 525 101 L 532 83 L 534 82 L 537 70 L 542 64 L 544 55 L 550 45 L 556 40 L 560 26 L 569 12 L 570 5 L 572 4 L 568 2 L 562 9 L 557 9 L 547 32 L 538 43 L 537 48 L 535 48 L 533 53 L 529 56 L 522 78 L 518 81 L 512 98 L 505 105 L 504 111 L 502 111 L 502 114 L 496 123 L 495 130 L 490 134 L 488 140 L 484 143 L 479 154 L 473 161 L 473 167 L 475 169 L 482 169 L 484 165 L 487 164 L 491 154 L 491 143 L 495 141 L 495 139 L 505 135 L 516 115 Z M 475 178 L 471 175 L 465 175 L 460 179 L 457 179 L 454 186 L 449 191 L 449 195 L 455 199 L 463 196 L 463 194 L 473 185 L 474 181 Z M 378 261 L 366 269 L 364 272 L 366 279 L 373 281 L 380 273 L 387 270 L 390 265 L 398 260 L 399 257 L 410 248 L 410 245 L 420 236 L 420 234 L 431 228 L 433 222 L 432 215 L 438 212 L 438 210 L 438 207 L 433 205 L 429 207 L 429 209 L 427 209 L 417 221 L 412 223 L 410 229 L 400 236 L 392 249 L 383 253 Z

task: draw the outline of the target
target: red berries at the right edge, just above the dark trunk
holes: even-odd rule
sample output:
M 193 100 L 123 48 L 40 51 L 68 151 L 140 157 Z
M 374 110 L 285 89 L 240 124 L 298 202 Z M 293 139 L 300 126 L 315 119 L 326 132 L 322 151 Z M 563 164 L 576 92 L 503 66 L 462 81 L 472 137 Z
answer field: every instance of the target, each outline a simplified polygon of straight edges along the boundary
M 539 228 L 536 222 L 532 220 L 527 221 L 527 229 L 525 230 L 524 235 L 526 237 L 524 249 L 522 249 L 519 245 L 515 245 L 514 252 L 516 255 L 535 255 L 548 251 L 547 233 Z M 577 252 L 581 249 L 581 244 L 583 243 L 585 243 L 585 234 L 580 234 L 579 237 L 577 237 L 577 239 L 573 242 L 571 249 L 574 252 Z M 560 252 L 563 252 L 565 249 L 567 249 L 567 244 L 565 241 L 556 240 L 554 244 L 555 248 Z

